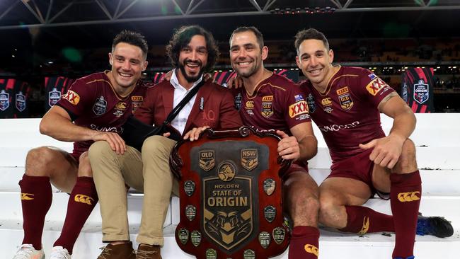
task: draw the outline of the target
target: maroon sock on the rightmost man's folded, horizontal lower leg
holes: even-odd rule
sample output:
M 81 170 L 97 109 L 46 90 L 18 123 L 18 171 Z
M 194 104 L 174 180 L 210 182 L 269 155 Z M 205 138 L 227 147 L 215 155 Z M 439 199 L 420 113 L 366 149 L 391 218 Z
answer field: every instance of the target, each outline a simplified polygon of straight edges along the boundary
M 347 209 L 347 226 L 339 229 L 340 231 L 357 234 L 394 231 L 391 215 L 362 206 L 345 206 L 345 209 Z

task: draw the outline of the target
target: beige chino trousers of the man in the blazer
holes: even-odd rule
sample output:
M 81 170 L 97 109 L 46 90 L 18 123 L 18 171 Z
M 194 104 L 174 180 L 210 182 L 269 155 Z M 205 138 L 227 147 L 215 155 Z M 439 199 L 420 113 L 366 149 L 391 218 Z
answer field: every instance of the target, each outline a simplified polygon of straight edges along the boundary
M 103 241 L 129 241 L 125 183 L 144 192 L 138 243 L 163 246 L 163 224 L 171 193 L 178 195 L 178 181 L 169 168 L 172 139 L 152 136 L 144 141 L 142 153 L 127 146 L 118 155 L 108 142 L 91 145 L 89 159 L 99 196 Z

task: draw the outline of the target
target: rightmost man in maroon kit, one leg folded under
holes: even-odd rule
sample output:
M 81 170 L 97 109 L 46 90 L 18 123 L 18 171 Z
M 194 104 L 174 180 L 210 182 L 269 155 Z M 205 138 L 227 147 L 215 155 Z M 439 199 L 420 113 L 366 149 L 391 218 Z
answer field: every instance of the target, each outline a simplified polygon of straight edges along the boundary
M 409 139 L 415 115 L 406 103 L 372 71 L 333 66 L 328 40 L 315 29 L 296 35 L 297 66 L 308 81 L 306 91 L 311 119 L 328 145 L 333 164 L 320 185 L 319 220 L 340 231 L 359 234 L 395 231 L 393 258 L 414 258 L 418 234 L 451 236 L 449 221 L 419 217 L 422 194 Z M 393 117 L 385 136 L 380 114 Z M 375 193 L 391 198 L 393 216 L 362 207 Z

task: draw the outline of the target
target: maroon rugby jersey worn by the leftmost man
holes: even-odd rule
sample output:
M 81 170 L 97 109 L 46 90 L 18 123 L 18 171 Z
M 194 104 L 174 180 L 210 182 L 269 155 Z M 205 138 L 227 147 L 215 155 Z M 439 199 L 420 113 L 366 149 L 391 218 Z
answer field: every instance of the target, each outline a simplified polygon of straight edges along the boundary
M 127 117 L 142 105 L 148 86 L 139 81 L 128 96 L 121 97 L 106 73 L 108 71 L 76 79 L 57 105 L 67 110 L 75 125 L 120 133 Z M 72 155 L 78 158 L 91 144 L 93 141 L 74 142 Z

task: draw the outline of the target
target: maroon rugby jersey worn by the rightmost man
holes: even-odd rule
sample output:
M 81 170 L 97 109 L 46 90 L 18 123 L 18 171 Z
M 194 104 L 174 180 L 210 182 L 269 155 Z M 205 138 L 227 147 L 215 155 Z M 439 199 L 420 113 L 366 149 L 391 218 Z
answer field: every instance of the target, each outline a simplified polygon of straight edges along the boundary
M 360 67 L 340 67 L 324 93 L 309 81 L 306 91 L 311 119 L 318 125 L 334 162 L 363 150 L 359 144 L 384 137 L 377 106 L 394 90 L 372 71 Z

